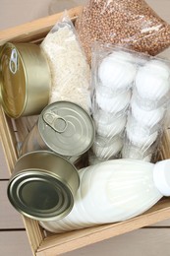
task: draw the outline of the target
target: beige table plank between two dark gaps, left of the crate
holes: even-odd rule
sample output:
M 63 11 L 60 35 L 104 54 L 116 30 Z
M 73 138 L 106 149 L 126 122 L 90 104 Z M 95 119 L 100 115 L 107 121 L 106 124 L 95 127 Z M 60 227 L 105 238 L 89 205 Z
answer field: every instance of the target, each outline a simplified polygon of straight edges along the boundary
M 8 181 L 0 181 L 0 229 L 25 228 L 21 215 L 7 197 Z

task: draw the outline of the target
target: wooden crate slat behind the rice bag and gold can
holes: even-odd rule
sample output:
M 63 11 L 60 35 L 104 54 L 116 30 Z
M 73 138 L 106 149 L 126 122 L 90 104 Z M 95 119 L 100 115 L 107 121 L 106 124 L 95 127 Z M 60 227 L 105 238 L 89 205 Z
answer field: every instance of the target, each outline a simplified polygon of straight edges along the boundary
M 70 9 L 68 15 L 74 19 L 82 11 L 81 6 Z M 7 41 L 11 42 L 26 42 L 33 41 L 39 38 L 43 38 L 47 32 L 63 17 L 63 12 L 55 15 L 51 15 L 45 18 L 38 19 L 36 21 L 7 29 L 0 32 L 0 45 L 3 45 Z

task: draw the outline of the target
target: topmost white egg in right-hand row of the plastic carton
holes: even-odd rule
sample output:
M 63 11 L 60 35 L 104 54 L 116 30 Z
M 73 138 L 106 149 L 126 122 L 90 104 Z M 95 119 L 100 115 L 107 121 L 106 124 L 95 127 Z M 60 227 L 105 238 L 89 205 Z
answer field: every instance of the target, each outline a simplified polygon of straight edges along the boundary
M 170 63 L 150 59 L 139 68 L 135 97 L 143 109 L 155 109 L 167 102 L 170 96 Z

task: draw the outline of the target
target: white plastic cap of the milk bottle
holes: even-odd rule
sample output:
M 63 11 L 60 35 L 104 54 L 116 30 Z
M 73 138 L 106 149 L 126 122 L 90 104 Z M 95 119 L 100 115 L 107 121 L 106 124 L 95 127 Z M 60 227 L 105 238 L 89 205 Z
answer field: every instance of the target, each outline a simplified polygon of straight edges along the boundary
M 170 196 L 170 160 L 160 160 L 155 163 L 153 181 L 163 196 Z

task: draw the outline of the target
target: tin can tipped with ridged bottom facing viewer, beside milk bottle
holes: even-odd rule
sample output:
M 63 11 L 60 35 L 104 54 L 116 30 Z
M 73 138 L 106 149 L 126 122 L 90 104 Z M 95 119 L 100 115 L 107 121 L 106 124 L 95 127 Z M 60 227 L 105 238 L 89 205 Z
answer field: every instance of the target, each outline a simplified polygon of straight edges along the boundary
M 73 208 L 80 185 L 76 167 L 49 151 L 21 157 L 8 184 L 8 198 L 14 208 L 37 221 L 55 221 Z

